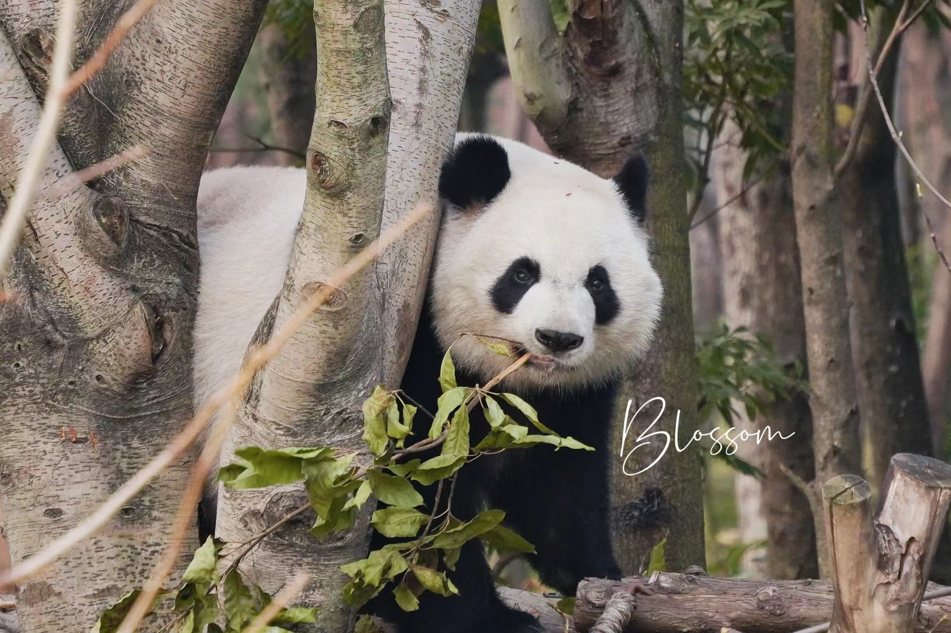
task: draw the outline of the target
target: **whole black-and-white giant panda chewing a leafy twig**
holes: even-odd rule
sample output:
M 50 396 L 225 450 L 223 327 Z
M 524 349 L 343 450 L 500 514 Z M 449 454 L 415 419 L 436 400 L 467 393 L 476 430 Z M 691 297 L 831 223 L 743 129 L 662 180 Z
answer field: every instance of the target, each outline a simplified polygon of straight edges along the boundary
M 531 360 L 496 388 L 595 451 L 537 446 L 480 456 L 456 479 L 452 512 L 486 505 L 535 547 L 543 583 L 573 595 L 586 576 L 619 578 L 609 533 L 608 445 L 620 377 L 650 346 L 661 303 L 642 224 L 648 168 L 632 157 L 611 180 L 525 144 L 458 134 L 439 177 L 443 209 L 430 287 L 401 388 L 437 410 L 440 363 L 454 342 L 460 385 L 485 384 L 512 358 L 471 336 L 517 341 Z M 207 397 L 240 366 L 281 291 L 306 188 L 300 169 L 209 172 L 198 200 L 202 257 L 195 381 Z M 473 411 L 472 441 L 488 423 Z M 425 455 L 423 455 L 425 457 Z M 433 503 L 428 487 L 424 496 Z M 375 535 L 374 548 L 386 539 Z M 384 591 L 365 611 L 401 633 L 514 633 L 534 618 L 502 604 L 477 540 L 449 572 L 457 596 L 429 592 L 404 612 Z

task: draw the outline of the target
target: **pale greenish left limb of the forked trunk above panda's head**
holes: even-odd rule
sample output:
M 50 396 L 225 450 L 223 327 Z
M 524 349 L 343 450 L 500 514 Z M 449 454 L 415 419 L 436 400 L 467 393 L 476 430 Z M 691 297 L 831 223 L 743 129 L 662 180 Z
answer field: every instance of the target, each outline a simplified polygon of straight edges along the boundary
M 549 3 L 500 0 L 498 17 L 521 106 L 539 128 L 557 129 L 568 116 L 572 81 Z

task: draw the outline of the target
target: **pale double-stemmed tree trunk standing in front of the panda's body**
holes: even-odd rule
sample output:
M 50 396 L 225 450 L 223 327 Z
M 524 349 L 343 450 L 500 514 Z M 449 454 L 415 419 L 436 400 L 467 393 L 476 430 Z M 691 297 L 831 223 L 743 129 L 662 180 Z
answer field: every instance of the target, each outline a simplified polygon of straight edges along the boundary
M 258 336 L 280 326 L 321 279 L 412 206 L 436 207 L 439 165 L 452 144 L 477 15 L 473 0 L 443 3 L 427 14 L 387 6 L 384 43 L 382 2 L 316 3 L 318 98 L 307 150 L 308 194 L 284 289 Z M 434 212 L 375 269 L 337 289 L 333 309 L 318 311 L 258 374 L 223 461 L 247 444 L 363 450 L 361 404 L 375 384 L 399 384 L 437 228 Z M 243 542 L 305 498 L 292 487 L 222 489 L 218 535 Z M 289 522 L 280 539 L 264 542 L 243 561 L 243 570 L 273 590 L 306 568 L 314 576 L 302 602 L 320 604 L 317 630 L 346 630 L 354 613 L 340 593 L 340 565 L 365 555 L 372 510 L 373 504 L 365 505 L 354 528 L 320 544 L 306 519 Z

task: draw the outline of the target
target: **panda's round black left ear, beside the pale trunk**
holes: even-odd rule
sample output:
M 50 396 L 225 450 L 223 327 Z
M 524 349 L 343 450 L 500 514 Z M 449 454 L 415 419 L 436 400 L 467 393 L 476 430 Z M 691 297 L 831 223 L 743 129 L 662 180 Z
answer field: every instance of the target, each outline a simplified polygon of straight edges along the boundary
M 512 170 L 509 155 L 491 136 L 471 136 L 456 144 L 439 174 L 439 197 L 460 209 L 480 209 L 502 192 Z

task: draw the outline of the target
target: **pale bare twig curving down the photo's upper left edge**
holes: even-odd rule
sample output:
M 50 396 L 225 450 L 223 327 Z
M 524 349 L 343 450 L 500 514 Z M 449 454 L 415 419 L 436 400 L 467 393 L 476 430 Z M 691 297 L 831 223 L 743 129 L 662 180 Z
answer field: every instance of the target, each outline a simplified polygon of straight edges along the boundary
M 4 278 L 7 265 L 13 255 L 27 220 L 27 212 L 36 197 L 40 178 L 47 165 L 49 150 L 56 142 L 56 130 L 59 129 L 63 106 L 66 103 L 66 86 L 69 78 L 69 64 L 72 54 L 72 34 L 76 27 L 76 0 L 63 0 L 59 3 L 60 19 L 56 26 L 56 48 L 53 50 L 53 63 L 49 71 L 49 89 L 43 113 L 29 147 L 27 164 L 20 172 L 16 191 L 0 224 L 0 278 Z

